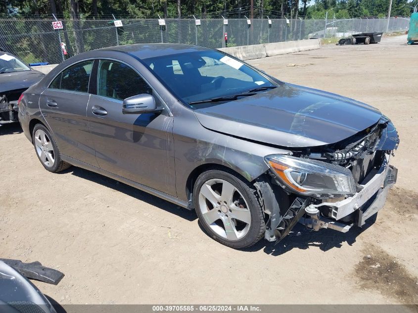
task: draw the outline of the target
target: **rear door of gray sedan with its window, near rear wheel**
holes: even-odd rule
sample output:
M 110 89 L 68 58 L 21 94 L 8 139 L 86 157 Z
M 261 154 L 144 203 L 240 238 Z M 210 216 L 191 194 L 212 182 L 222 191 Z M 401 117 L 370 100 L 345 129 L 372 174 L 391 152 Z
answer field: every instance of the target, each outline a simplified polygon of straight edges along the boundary
M 86 116 L 93 61 L 63 70 L 41 94 L 39 106 L 62 154 L 98 167 Z

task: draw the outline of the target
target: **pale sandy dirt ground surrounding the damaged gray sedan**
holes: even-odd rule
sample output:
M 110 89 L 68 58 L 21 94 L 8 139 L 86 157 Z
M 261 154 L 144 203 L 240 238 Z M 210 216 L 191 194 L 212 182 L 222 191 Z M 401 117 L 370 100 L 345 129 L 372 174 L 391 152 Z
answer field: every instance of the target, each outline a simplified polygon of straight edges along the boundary
M 372 104 L 397 126 L 397 187 L 365 229 L 297 226 L 277 246 L 233 250 L 210 239 L 194 212 L 82 169 L 47 172 L 19 127 L 3 126 L 0 258 L 64 272 L 58 286 L 35 282 L 61 304 L 418 303 L 418 46 L 406 42 L 250 61 Z

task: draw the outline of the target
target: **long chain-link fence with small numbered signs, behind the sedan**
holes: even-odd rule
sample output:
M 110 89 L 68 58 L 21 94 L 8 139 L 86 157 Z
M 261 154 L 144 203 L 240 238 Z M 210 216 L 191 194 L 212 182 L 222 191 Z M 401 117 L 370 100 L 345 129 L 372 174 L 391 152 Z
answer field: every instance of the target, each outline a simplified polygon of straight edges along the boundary
M 0 19 L 0 47 L 26 63 L 60 63 L 75 54 L 115 45 L 180 43 L 212 48 L 257 45 L 323 37 L 347 37 L 361 32 L 405 31 L 409 18 L 302 20 L 302 19 L 124 19 L 62 20 L 63 29 L 53 30 L 54 20 Z M 60 43 L 66 45 L 63 55 Z

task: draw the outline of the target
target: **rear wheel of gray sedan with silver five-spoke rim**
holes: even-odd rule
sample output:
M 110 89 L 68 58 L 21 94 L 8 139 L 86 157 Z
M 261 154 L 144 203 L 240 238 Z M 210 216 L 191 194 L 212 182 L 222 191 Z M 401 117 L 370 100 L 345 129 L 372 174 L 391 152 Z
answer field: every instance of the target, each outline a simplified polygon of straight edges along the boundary
M 56 173 L 68 169 L 71 166 L 62 161 L 58 146 L 44 125 L 35 125 L 32 133 L 32 141 L 36 155 L 47 171 Z

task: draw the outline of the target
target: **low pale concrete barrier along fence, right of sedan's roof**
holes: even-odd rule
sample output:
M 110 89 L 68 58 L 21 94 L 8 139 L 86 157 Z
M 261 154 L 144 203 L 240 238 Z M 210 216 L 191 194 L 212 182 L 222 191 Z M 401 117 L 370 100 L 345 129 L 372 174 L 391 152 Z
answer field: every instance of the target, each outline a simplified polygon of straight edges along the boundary
M 219 48 L 218 50 L 232 54 L 241 60 L 251 60 L 266 56 L 275 56 L 319 48 L 321 48 L 320 39 L 309 39 L 263 45 L 242 45 L 236 47 Z

